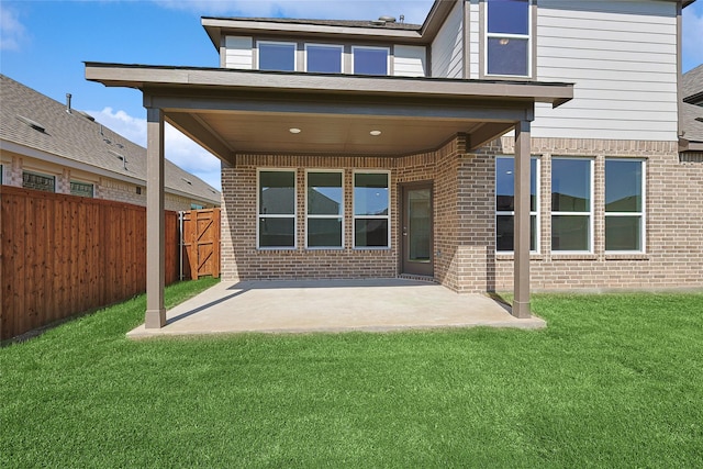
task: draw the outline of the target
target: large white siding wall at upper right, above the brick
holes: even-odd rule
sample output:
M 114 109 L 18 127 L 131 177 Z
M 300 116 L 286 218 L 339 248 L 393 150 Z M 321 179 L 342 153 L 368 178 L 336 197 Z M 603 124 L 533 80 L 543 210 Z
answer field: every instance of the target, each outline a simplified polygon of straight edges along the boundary
M 533 136 L 677 139 L 673 2 L 543 0 L 537 11 L 537 79 L 574 91 L 536 107 Z

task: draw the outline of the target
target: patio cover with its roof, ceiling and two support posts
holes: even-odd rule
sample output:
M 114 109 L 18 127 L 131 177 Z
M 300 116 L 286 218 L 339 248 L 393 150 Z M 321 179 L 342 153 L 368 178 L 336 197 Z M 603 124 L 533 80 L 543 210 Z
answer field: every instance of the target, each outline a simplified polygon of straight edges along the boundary
M 165 121 L 219 157 L 223 168 L 250 155 L 399 158 L 436 150 L 457 135 L 473 152 L 514 131 L 511 314 L 531 317 L 531 122 L 536 102 L 558 107 L 572 98 L 572 85 L 102 63 L 87 63 L 86 78 L 141 90 L 147 110 L 147 330 L 174 330 L 172 319 L 182 314 L 169 319 L 164 308 Z M 241 297 L 267 289 L 246 291 Z

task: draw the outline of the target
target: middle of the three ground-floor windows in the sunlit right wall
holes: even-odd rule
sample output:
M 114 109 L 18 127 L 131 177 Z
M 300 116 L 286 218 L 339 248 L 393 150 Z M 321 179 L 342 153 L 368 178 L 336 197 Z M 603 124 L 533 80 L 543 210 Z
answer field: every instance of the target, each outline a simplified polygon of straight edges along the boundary
M 591 252 L 592 175 L 592 159 L 551 159 L 551 250 Z

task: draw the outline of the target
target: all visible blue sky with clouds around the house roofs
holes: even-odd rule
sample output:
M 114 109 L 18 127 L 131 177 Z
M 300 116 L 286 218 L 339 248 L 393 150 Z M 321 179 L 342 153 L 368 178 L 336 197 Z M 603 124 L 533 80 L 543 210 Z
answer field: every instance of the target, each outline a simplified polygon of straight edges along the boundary
M 1 0 L 0 72 L 145 145 L 142 96 L 86 81 L 83 62 L 216 67 L 200 16 L 376 19 L 422 23 L 432 0 Z M 683 69 L 703 63 L 703 0 L 684 10 Z M 220 188 L 219 161 L 167 130 L 166 156 Z

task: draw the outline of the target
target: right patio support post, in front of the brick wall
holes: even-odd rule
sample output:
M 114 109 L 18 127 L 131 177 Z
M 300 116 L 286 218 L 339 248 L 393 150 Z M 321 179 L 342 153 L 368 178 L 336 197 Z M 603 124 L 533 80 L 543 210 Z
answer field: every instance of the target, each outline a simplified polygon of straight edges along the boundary
M 515 125 L 515 236 L 513 316 L 529 311 L 529 121 Z

